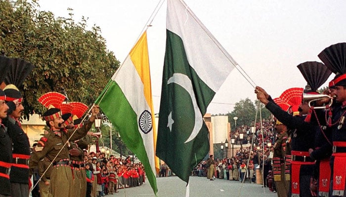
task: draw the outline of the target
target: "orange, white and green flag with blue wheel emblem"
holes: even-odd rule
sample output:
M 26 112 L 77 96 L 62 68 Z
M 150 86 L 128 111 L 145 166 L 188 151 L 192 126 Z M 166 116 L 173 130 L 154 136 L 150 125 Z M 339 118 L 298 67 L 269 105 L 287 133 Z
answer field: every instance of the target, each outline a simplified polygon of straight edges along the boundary
M 156 194 L 156 133 L 146 32 L 95 103 L 98 103 L 109 121 L 116 126 L 126 146 L 142 162 Z

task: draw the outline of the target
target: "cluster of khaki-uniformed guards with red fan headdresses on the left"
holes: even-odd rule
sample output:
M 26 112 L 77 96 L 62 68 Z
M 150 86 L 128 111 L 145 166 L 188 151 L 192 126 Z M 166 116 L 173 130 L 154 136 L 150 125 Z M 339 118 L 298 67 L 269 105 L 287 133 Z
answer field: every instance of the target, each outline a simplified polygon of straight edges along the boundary
M 31 154 L 29 167 L 38 167 L 41 197 L 86 197 L 87 178 L 83 149 L 91 141 L 88 132 L 99 113 L 98 106 L 83 126 L 82 116 L 87 105 L 69 102 L 56 92 L 46 93 L 38 100 L 47 111 L 43 119 L 49 128 Z

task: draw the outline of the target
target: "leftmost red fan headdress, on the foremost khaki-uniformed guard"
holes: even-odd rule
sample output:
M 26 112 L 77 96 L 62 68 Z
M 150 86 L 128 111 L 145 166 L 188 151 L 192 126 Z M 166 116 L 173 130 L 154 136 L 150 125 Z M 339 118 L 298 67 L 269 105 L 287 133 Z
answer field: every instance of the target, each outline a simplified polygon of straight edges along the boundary
M 42 95 L 38 101 L 46 108 L 59 108 L 66 96 L 57 92 L 48 92 Z

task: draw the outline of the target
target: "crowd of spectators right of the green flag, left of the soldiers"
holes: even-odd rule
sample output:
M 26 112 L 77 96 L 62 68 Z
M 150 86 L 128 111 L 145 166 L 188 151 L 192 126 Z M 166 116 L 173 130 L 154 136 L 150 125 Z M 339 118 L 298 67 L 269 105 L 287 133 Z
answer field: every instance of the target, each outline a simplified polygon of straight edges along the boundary
M 235 131 L 231 131 L 230 137 L 235 139 L 236 145 L 243 143 L 243 145 L 248 144 L 248 146 L 242 146 L 242 148 L 235 150 L 233 157 L 216 158 L 215 178 L 255 183 L 256 169 L 259 169 L 264 177 L 263 187 L 268 186 L 266 177 L 270 177 L 268 175 L 271 170 L 272 145 L 275 142 L 276 136 L 273 129 L 274 125 L 272 121 L 263 119 L 262 124 L 260 122 L 256 123 L 255 133 L 251 131 L 251 127 L 254 126 L 254 123 L 251 125 L 252 126 L 243 125 L 237 127 Z M 242 141 L 239 133 L 244 133 Z M 252 140 L 254 142 L 251 146 Z M 206 177 L 207 168 L 206 161 L 202 161 L 194 168 L 192 175 Z

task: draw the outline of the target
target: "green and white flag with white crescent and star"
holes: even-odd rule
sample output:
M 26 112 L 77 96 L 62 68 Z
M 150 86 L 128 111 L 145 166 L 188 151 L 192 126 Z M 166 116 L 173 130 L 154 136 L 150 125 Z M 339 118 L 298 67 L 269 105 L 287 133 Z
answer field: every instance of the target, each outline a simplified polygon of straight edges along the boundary
M 209 152 L 203 121 L 236 63 L 182 0 L 167 1 L 167 40 L 156 155 L 188 183 Z

